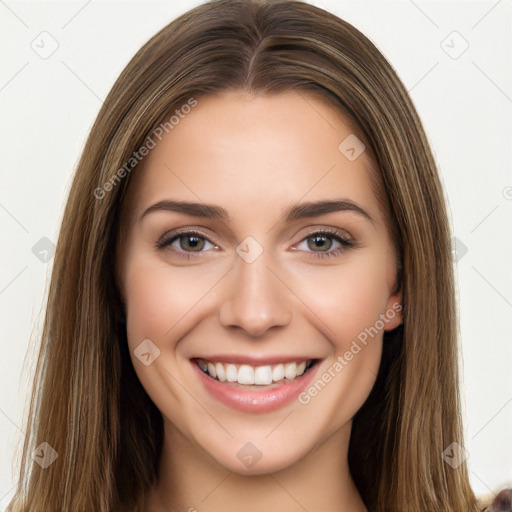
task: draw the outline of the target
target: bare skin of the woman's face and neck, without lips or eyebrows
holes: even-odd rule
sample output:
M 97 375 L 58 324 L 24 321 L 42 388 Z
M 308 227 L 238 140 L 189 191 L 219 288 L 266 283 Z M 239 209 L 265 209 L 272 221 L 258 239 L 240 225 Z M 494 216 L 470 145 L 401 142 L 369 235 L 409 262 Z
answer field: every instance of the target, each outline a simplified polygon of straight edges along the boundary
M 347 463 L 352 418 L 375 382 L 383 330 L 399 325 L 400 314 L 309 403 L 293 400 L 273 412 L 220 403 L 190 362 L 218 353 L 308 356 L 321 360 L 320 377 L 401 302 L 367 153 L 349 161 L 338 150 L 352 133 L 323 100 L 231 91 L 198 98 L 143 161 L 127 197 L 118 279 L 132 362 L 164 418 L 159 482 L 146 510 L 365 510 Z M 159 210 L 141 219 L 166 199 L 215 204 L 231 218 Z M 328 199 L 352 201 L 372 221 L 354 211 L 281 220 L 297 202 Z M 180 228 L 211 243 L 193 259 L 180 258 L 190 254 L 186 237 L 184 245 L 177 238 L 155 247 Z M 341 251 L 318 257 L 308 240 L 326 228 L 356 245 L 327 237 L 322 247 Z M 248 236 L 263 249 L 252 263 L 236 253 Z M 160 350 L 148 366 L 134 355 L 144 339 Z M 237 457 L 247 442 L 261 453 L 251 467 Z

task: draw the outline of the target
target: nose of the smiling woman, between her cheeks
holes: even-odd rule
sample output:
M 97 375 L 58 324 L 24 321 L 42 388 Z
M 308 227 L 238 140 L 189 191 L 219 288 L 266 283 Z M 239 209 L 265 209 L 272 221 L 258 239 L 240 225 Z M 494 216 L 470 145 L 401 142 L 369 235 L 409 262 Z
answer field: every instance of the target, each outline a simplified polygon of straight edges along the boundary
M 250 337 L 261 337 L 272 327 L 288 325 L 292 318 L 290 291 L 275 270 L 260 256 L 247 263 L 237 258 L 230 272 L 220 321 L 225 327 L 239 328 Z

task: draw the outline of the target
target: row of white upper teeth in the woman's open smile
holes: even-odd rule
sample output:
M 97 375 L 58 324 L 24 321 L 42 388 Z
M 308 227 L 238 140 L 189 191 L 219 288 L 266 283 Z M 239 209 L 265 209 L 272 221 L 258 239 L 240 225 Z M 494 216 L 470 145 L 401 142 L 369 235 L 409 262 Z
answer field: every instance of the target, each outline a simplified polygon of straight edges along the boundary
M 279 382 L 286 378 L 293 380 L 306 372 L 311 361 L 301 363 L 276 364 L 275 366 L 250 366 L 248 364 L 235 365 L 212 363 L 198 359 L 197 364 L 201 370 L 220 382 L 238 382 L 239 384 L 268 386 L 272 382 Z

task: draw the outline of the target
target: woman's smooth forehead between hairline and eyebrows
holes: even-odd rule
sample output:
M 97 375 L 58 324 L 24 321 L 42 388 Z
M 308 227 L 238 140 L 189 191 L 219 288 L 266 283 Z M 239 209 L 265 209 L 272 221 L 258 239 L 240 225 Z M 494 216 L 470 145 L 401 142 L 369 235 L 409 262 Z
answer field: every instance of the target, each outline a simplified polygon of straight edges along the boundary
M 270 217 L 299 200 L 348 198 L 378 218 L 369 152 L 354 131 L 326 101 L 295 92 L 198 98 L 136 170 L 132 213 L 171 198 L 239 218 L 265 205 Z

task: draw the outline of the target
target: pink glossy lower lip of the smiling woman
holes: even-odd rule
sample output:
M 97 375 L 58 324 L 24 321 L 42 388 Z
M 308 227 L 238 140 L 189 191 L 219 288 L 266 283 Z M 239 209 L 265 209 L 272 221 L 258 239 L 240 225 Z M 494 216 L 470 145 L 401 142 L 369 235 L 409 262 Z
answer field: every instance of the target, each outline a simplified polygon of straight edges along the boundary
M 208 393 L 229 407 L 249 413 L 276 411 L 290 403 L 309 385 L 319 366 L 317 362 L 305 374 L 281 386 L 253 391 L 213 379 L 206 375 L 196 363 L 191 361 L 191 364 Z

